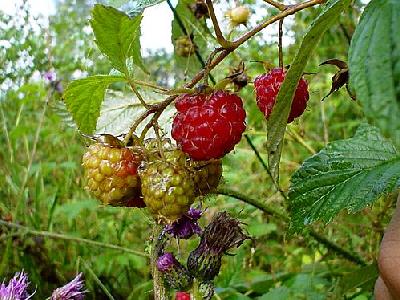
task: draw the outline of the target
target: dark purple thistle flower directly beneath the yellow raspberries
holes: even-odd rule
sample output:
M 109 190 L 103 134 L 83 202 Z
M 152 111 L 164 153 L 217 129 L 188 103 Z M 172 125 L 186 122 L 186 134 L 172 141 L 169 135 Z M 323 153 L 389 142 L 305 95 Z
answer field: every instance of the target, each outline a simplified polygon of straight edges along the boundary
M 201 209 L 190 208 L 187 214 L 183 215 L 180 219 L 167 225 L 165 231 L 175 238 L 188 239 L 193 234 L 200 235 L 202 230 L 197 222 L 203 212 Z

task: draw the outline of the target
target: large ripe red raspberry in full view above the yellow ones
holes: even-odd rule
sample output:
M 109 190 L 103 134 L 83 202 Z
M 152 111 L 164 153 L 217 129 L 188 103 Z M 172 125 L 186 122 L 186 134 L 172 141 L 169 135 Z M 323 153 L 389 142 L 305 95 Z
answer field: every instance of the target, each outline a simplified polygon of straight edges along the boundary
M 242 99 L 226 91 L 183 95 L 172 124 L 172 137 L 194 160 L 218 159 L 239 143 L 246 128 Z

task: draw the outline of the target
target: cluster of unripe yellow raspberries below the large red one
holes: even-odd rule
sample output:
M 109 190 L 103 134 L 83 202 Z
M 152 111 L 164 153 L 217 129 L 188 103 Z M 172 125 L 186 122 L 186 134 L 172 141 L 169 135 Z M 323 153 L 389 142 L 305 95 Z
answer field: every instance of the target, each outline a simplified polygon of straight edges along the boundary
M 135 147 L 137 149 L 137 147 Z M 83 156 L 87 189 L 105 205 L 146 207 L 169 224 L 222 176 L 220 160 L 194 161 L 169 140 L 150 139 L 140 154 L 118 143 L 95 143 Z

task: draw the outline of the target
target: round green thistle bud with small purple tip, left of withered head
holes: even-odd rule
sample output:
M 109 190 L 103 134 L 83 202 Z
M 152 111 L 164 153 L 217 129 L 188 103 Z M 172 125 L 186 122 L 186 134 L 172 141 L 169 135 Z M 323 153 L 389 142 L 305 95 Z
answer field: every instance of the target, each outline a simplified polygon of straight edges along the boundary
M 188 270 L 170 252 L 164 253 L 157 259 L 157 269 L 170 288 L 186 290 L 192 285 L 193 279 Z

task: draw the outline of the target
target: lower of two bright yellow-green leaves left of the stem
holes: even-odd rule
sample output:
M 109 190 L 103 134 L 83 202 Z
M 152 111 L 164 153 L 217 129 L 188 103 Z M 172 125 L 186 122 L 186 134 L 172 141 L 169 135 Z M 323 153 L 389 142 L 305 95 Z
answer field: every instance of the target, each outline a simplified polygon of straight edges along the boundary
M 72 81 L 64 93 L 64 101 L 78 128 L 87 134 L 96 129 L 100 107 L 107 87 L 121 76 L 97 75 Z

